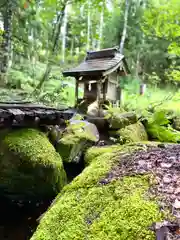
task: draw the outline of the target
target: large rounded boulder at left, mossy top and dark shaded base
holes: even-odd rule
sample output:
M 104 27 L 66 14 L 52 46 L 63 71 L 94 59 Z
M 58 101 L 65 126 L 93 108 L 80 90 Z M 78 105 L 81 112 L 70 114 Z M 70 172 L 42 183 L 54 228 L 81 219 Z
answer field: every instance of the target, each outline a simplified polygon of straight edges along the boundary
M 53 197 L 66 183 L 61 157 L 34 129 L 1 134 L 0 176 L 1 194 L 20 200 Z

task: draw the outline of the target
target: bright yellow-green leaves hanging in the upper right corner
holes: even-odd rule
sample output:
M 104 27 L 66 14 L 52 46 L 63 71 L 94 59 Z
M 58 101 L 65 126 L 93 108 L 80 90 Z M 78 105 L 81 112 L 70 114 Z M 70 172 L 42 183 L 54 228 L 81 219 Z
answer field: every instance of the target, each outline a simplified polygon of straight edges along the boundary
M 179 13 L 180 7 L 178 0 L 163 1 L 161 4 L 151 5 L 151 8 L 146 9 L 142 23 L 145 34 L 149 37 L 153 36 L 157 39 L 162 39 L 168 43 L 166 59 L 168 57 L 168 62 L 170 66 L 173 65 L 173 69 L 166 69 L 168 72 L 166 80 L 175 83 L 179 80 L 180 26 L 177 21 Z

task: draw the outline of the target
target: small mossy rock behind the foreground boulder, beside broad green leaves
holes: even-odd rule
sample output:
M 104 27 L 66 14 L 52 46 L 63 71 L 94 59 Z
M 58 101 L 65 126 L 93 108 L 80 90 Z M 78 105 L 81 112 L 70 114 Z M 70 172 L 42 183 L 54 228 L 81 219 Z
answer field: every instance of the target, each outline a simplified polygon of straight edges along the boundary
M 120 141 L 123 143 L 141 142 L 148 140 L 145 127 L 141 122 L 126 126 L 125 128 L 120 129 L 118 133 L 120 135 Z

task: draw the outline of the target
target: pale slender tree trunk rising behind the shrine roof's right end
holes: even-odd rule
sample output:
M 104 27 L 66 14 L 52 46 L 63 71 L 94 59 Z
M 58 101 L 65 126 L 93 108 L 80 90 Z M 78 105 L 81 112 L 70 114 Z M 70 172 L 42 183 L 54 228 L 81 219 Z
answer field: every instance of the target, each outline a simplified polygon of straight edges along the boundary
M 128 26 L 128 14 L 129 14 L 129 0 L 125 0 L 124 27 L 123 27 L 123 32 L 122 32 L 122 37 L 121 37 L 121 42 L 120 42 L 120 47 L 119 47 L 119 51 L 121 54 L 123 54 L 124 43 L 126 40 L 127 26 Z

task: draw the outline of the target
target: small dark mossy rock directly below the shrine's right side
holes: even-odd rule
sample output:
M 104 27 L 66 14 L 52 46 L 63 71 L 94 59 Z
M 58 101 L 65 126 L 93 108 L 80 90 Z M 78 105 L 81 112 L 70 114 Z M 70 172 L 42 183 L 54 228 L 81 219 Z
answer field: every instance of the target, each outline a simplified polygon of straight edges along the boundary
M 114 114 L 109 118 L 111 129 L 121 129 L 137 122 L 137 116 L 134 112 L 124 112 Z

